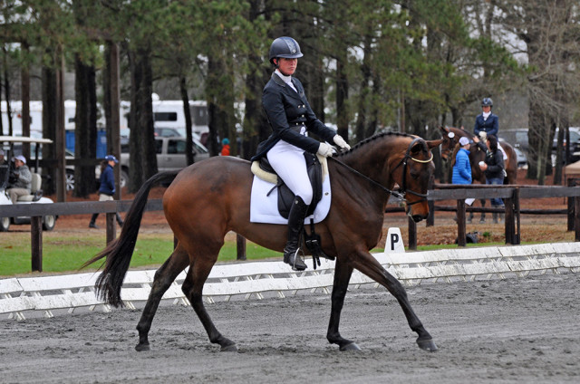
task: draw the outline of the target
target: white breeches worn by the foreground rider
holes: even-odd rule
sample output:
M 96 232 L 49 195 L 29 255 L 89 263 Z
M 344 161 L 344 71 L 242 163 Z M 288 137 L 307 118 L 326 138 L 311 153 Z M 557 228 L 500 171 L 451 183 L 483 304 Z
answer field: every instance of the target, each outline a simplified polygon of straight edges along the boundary
M 294 192 L 295 196 L 302 197 L 304 203 L 310 206 L 313 192 L 306 172 L 304 149 L 280 140 L 266 156 L 272 168 L 284 180 L 285 185 Z

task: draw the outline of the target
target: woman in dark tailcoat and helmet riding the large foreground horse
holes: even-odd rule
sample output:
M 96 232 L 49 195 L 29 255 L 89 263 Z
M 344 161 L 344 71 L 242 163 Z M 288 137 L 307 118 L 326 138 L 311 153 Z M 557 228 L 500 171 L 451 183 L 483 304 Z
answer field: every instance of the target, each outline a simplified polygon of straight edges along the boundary
M 284 247 L 284 262 L 295 271 L 306 269 L 298 254 L 299 239 L 313 199 L 304 151 L 317 152 L 324 157 L 333 155 L 330 144 L 309 138 L 308 132 L 334 142 L 341 149 L 351 149 L 340 135 L 316 118 L 306 100 L 302 82 L 292 77 L 298 58 L 302 56 L 300 45 L 292 37 L 278 37 L 270 46 L 269 57 L 275 72 L 264 87 L 262 104 L 273 133 L 258 145 L 257 154 L 252 158 L 255 161 L 266 156 L 275 173 L 295 194 L 288 214 L 288 241 Z

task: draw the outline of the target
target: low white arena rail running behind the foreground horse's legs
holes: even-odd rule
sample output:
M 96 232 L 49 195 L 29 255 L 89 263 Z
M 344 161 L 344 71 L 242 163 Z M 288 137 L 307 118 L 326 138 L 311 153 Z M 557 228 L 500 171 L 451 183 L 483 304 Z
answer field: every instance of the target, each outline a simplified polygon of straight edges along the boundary
M 429 252 L 373 254 L 385 268 L 405 285 L 422 282 L 475 281 L 491 278 L 525 277 L 528 274 L 576 273 L 580 270 L 580 243 L 553 243 L 444 249 Z M 312 258 L 308 269 L 293 272 L 282 262 L 245 262 L 218 264 L 204 286 L 206 302 L 241 299 L 263 299 L 266 296 L 284 298 L 298 292 L 330 293 L 333 285 L 334 262 L 321 261 L 314 270 Z M 129 308 L 144 302 L 150 293 L 155 271 L 130 271 L 125 277 L 121 298 Z M 111 311 L 98 300 L 93 285 L 98 274 L 72 274 L 47 277 L 8 278 L 0 280 L 0 314 L 17 320 L 25 312 L 43 312 L 53 317 L 55 310 L 73 312 L 76 308 Z M 181 292 L 186 274 L 179 274 L 163 298 L 173 303 L 189 305 Z M 378 284 L 354 271 L 351 289 L 363 284 Z

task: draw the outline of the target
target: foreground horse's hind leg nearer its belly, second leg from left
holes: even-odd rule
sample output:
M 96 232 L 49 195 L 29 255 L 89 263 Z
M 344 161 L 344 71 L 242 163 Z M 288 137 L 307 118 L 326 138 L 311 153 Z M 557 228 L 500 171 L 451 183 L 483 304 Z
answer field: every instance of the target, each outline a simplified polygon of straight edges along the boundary
M 237 351 L 236 343 L 219 333 L 203 304 L 203 285 L 206 283 L 206 280 L 208 280 L 209 272 L 215 263 L 216 259 L 208 260 L 207 258 L 198 258 L 195 260 L 195 262 L 189 266 L 188 276 L 186 277 L 185 282 L 183 282 L 181 290 L 188 297 L 191 306 L 198 314 L 199 320 L 208 332 L 209 341 L 214 344 L 219 344 L 222 351 Z

